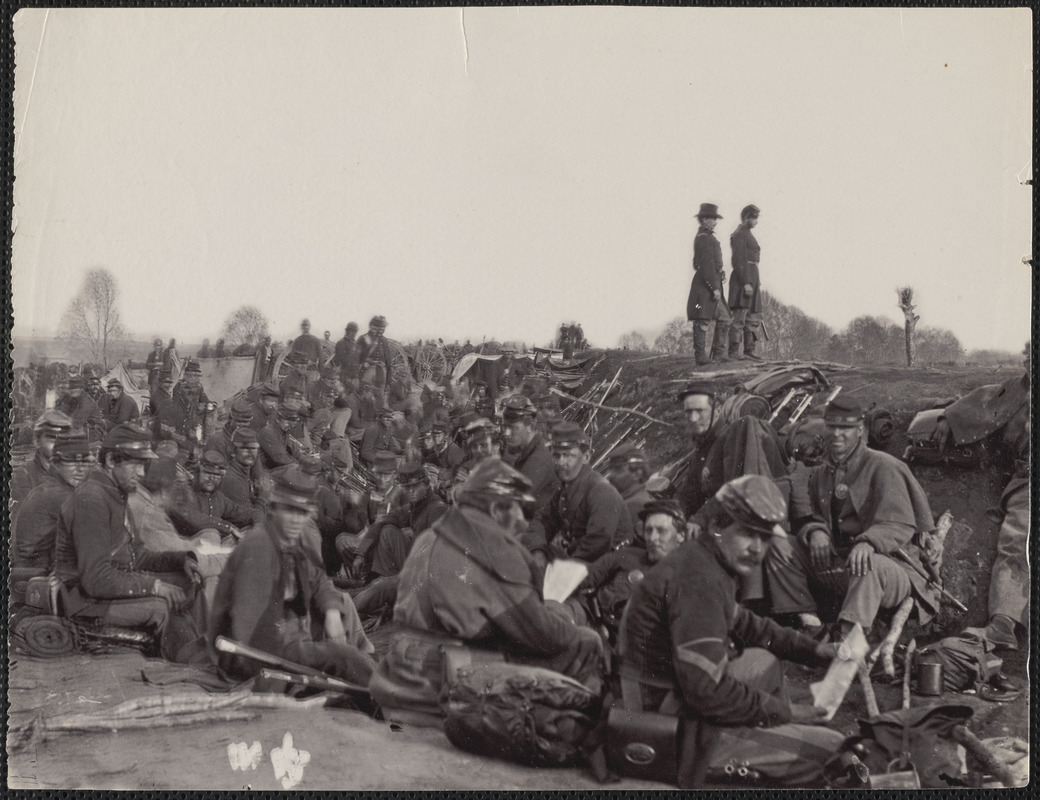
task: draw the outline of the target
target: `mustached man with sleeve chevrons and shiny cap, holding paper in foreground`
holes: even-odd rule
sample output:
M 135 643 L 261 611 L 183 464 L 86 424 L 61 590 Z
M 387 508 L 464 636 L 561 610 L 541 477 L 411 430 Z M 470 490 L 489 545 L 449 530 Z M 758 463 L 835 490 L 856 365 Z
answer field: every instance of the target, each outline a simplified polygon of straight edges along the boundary
M 723 778 L 727 765 L 759 773 L 764 786 L 822 783 L 843 737 L 797 724 L 822 722 L 825 711 L 788 701 L 780 660 L 825 665 L 838 645 L 736 602 L 738 579 L 786 536 L 786 505 L 761 475 L 731 481 L 716 499 L 706 536 L 675 548 L 632 592 L 618 640 L 621 706 L 681 717 L 680 789 Z

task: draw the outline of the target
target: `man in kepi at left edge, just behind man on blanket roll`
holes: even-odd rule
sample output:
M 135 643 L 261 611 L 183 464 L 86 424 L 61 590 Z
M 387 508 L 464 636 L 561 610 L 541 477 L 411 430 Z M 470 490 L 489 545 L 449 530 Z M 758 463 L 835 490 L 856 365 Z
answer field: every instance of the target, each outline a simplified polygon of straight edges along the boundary
M 29 492 L 15 520 L 10 554 L 14 567 L 47 574 L 54 566 L 61 506 L 86 479 L 97 459 L 83 431 L 64 431 L 52 440 L 51 466 Z

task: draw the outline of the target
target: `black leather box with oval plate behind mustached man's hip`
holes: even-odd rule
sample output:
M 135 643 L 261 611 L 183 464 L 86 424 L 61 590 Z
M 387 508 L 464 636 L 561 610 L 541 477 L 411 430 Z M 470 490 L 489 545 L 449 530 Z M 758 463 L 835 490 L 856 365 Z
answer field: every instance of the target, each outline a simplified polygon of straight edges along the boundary
M 679 718 L 612 708 L 606 718 L 606 762 L 619 775 L 675 785 L 679 779 Z

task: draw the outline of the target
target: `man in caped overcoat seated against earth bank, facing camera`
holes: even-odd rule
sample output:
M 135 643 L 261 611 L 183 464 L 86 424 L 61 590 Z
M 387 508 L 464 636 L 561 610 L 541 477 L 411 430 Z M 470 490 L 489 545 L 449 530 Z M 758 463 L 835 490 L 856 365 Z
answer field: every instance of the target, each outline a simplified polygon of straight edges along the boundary
M 841 635 L 855 624 L 869 631 L 880 610 L 912 595 L 927 622 L 935 589 L 896 554 L 919 562 L 913 537 L 934 528 L 924 489 L 902 461 L 866 446 L 855 399 L 831 401 L 824 422 L 827 458 L 809 475 L 812 518 L 765 560 L 774 616 L 808 629 L 836 617 Z

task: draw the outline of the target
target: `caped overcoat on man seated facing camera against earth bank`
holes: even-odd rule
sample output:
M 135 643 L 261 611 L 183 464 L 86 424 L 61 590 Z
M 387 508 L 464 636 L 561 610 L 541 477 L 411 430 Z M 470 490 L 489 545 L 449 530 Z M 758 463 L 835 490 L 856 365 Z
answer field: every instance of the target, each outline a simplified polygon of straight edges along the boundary
M 824 462 L 812 470 L 809 501 L 812 520 L 827 526 L 841 558 L 859 542 L 869 542 L 882 556 L 902 547 L 919 562 L 911 540 L 917 532 L 935 528 L 928 496 L 910 467 L 863 443 L 842 464 Z M 806 544 L 812 530 L 809 525 L 799 535 Z M 906 569 L 918 599 L 918 618 L 928 622 L 938 608 L 935 590 L 899 557 L 892 558 Z

